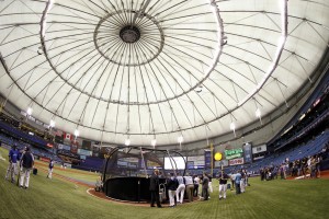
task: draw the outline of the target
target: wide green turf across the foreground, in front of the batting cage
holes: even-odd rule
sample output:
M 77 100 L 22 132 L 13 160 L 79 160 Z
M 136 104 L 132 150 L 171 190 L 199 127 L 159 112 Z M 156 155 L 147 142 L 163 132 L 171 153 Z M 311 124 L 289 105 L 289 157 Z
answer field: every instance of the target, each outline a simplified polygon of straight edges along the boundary
M 0 148 L 7 159 L 8 151 Z M 87 187 L 54 176 L 50 181 L 39 171 L 31 176 L 29 189 L 8 181 L 8 161 L 0 160 L 0 219 L 47 218 L 328 218 L 329 180 L 270 181 L 250 178 L 247 192 L 236 196 L 228 191 L 227 199 L 218 199 L 218 181 L 208 201 L 194 201 L 175 208 L 149 208 L 105 201 L 86 193 Z M 60 173 L 60 172 L 58 172 Z

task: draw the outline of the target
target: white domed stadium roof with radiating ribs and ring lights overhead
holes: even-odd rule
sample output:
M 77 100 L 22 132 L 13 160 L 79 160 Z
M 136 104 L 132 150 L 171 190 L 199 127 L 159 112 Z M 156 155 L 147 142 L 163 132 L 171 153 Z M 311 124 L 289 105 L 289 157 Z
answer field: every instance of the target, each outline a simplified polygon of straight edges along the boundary
M 84 138 L 149 146 L 219 136 L 311 82 L 328 48 L 328 9 L 324 0 L 0 1 L 0 92 Z

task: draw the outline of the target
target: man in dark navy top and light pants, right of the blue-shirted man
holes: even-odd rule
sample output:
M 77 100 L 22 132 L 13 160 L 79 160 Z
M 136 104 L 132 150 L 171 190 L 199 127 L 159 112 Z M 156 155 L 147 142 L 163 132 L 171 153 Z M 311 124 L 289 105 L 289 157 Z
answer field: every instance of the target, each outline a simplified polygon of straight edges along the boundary
M 23 154 L 21 159 L 21 180 L 20 180 L 20 187 L 29 188 L 30 183 L 30 174 L 32 171 L 32 168 L 34 165 L 34 157 L 30 151 L 30 148 L 25 148 L 25 153 Z

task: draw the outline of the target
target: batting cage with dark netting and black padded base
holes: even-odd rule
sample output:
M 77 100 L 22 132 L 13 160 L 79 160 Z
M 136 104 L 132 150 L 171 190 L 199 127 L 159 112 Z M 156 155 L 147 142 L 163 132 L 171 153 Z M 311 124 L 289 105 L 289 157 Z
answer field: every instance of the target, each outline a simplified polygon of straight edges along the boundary
M 164 200 L 169 173 L 184 175 L 186 159 L 178 151 L 143 147 L 116 147 L 105 155 L 103 192 L 109 198 L 145 203 L 150 200 L 149 177 L 158 169 L 160 199 Z

